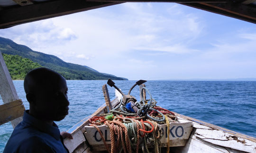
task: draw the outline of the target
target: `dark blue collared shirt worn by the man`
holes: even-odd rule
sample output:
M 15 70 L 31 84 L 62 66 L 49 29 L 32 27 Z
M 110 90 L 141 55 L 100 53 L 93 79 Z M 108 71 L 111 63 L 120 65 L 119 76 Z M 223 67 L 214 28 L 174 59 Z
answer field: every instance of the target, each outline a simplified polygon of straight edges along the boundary
M 23 121 L 13 130 L 3 153 L 69 153 L 58 126 L 44 123 L 24 112 Z

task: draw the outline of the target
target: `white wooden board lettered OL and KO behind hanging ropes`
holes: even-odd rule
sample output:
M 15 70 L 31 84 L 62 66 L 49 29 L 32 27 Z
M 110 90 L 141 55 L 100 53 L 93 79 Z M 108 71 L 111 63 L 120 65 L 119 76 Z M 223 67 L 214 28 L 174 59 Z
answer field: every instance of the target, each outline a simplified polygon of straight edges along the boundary
M 107 144 L 110 144 L 110 129 L 106 125 L 101 125 L 98 126 L 99 129 L 102 131 L 102 134 L 106 140 Z M 161 127 L 164 130 L 164 136 L 161 138 L 161 143 L 166 144 L 167 143 L 167 126 L 166 124 L 161 125 Z M 84 135 L 86 136 L 88 143 L 90 145 L 104 145 L 100 134 L 98 133 L 97 129 L 92 126 L 85 126 L 85 132 Z M 170 135 L 169 135 L 169 140 L 186 140 L 189 138 L 190 133 L 192 131 L 192 122 L 184 122 L 184 123 L 177 123 L 177 122 L 171 122 L 170 123 Z M 183 145 L 176 142 L 176 146 L 181 146 Z M 94 147 L 94 146 L 93 146 Z

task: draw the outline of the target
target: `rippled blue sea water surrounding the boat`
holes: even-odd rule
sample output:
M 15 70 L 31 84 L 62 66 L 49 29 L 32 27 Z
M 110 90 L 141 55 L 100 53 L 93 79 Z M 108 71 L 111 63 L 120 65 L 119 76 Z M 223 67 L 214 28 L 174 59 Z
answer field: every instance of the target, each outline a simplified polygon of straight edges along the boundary
M 136 81 L 115 81 L 124 93 Z M 57 122 L 66 131 L 91 115 L 105 101 L 102 85 L 107 81 L 68 80 L 69 115 Z M 157 105 L 220 127 L 256 137 L 256 82 L 248 81 L 148 81 L 146 87 Z M 28 109 L 23 81 L 14 81 L 18 96 Z M 114 88 L 108 86 L 110 98 Z M 139 100 L 139 88 L 131 92 Z M 11 135 L 10 123 L 0 126 L 0 152 Z

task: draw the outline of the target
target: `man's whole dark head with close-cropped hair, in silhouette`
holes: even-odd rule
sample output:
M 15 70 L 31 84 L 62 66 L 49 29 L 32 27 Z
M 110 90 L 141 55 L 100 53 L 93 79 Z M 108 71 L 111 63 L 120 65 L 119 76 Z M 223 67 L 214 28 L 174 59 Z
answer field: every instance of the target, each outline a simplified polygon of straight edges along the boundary
M 48 68 L 27 73 L 24 89 L 29 113 L 46 121 L 59 121 L 68 114 L 67 84 L 63 76 Z

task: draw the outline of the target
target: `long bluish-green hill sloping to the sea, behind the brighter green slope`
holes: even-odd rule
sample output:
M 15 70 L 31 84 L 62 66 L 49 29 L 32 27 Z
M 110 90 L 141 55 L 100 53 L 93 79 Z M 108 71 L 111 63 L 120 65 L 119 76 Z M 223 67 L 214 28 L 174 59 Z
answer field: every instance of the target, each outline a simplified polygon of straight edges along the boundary
M 19 55 L 38 63 L 42 67 L 53 69 L 63 75 L 67 80 L 128 80 L 127 78 L 117 77 L 97 70 L 73 63 L 64 62 L 54 55 L 32 51 L 25 45 L 20 45 L 10 39 L 0 37 L 0 51 L 4 54 Z

